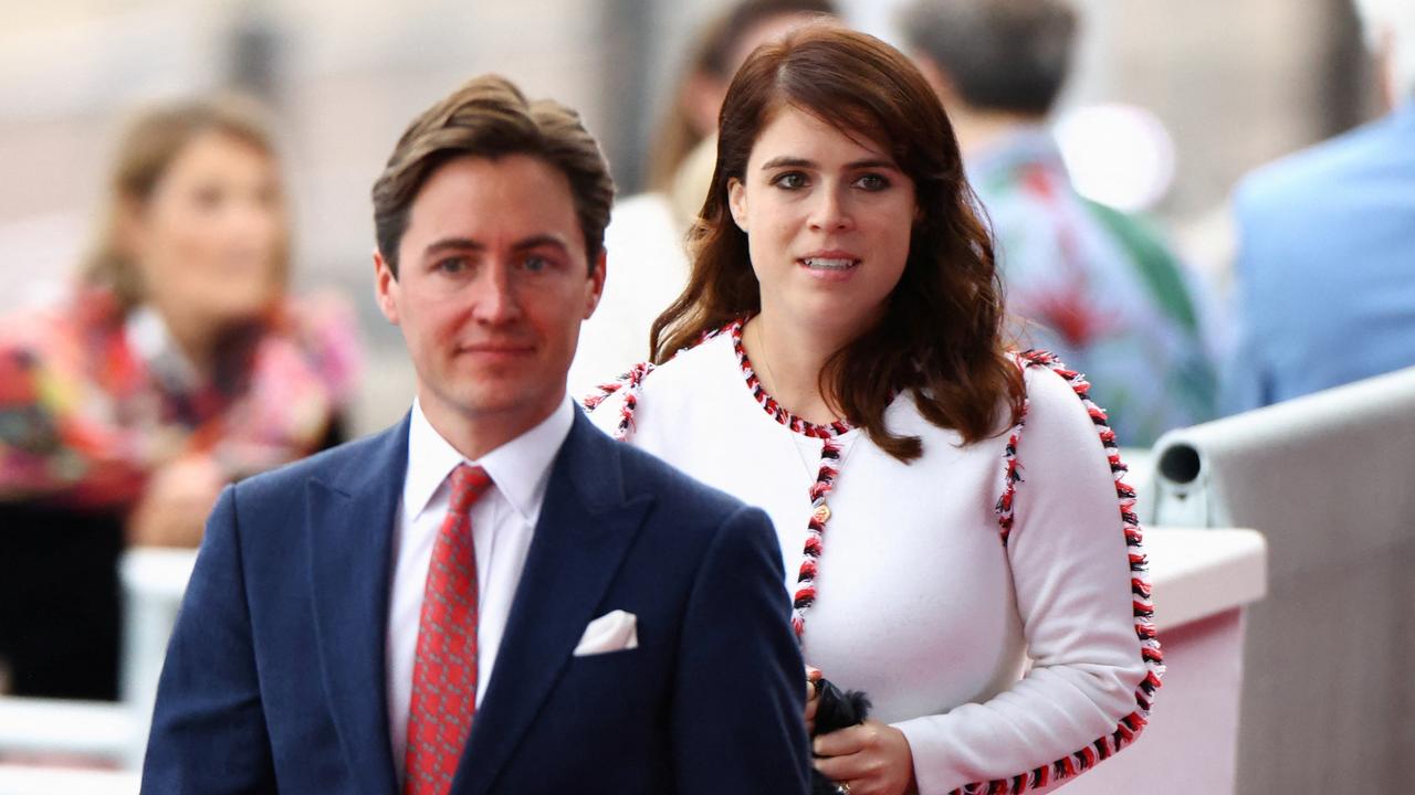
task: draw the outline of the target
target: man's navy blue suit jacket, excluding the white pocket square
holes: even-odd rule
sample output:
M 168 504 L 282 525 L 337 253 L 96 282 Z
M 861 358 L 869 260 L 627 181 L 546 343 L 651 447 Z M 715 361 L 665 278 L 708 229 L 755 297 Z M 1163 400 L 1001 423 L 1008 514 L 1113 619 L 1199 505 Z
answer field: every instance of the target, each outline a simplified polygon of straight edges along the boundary
M 408 420 L 226 488 L 167 652 L 143 792 L 393 795 L 385 635 Z M 638 617 L 638 648 L 572 656 Z M 576 413 L 451 792 L 807 792 L 767 516 Z

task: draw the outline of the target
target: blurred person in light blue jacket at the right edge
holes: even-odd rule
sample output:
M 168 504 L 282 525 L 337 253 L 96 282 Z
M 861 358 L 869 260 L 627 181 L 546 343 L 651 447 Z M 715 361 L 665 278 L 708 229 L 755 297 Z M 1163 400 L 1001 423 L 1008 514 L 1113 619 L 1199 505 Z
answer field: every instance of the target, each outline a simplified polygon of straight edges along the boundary
M 1230 413 L 1415 366 L 1415 3 L 1356 7 L 1390 112 L 1238 184 Z

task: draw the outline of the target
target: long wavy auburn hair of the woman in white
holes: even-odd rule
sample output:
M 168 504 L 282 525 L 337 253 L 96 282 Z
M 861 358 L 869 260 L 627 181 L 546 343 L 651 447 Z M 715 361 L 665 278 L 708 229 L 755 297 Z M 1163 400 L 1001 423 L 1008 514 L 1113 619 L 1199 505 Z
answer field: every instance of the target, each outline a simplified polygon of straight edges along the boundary
M 746 178 L 757 137 L 787 106 L 886 146 L 914 181 L 918 202 L 904 273 L 880 320 L 821 369 L 819 389 L 831 407 L 901 461 L 923 454 L 917 436 L 896 434 L 884 422 L 884 410 L 904 390 L 924 419 L 957 430 L 968 444 L 1015 424 L 1024 398 L 1022 372 L 1006 355 L 992 235 L 974 209 L 952 124 L 908 58 L 839 25 L 807 25 L 758 48 L 727 89 L 717 167 L 688 239 L 692 274 L 654 321 L 654 361 L 662 364 L 705 332 L 761 310 L 747 235 L 732 219 L 727 185 Z

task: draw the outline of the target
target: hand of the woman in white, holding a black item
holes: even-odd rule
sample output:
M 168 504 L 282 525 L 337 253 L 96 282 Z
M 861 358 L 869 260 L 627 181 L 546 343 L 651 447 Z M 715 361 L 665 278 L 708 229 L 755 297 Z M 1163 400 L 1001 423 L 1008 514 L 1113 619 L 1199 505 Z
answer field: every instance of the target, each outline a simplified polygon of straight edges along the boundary
M 809 707 L 807 707 L 809 709 Z M 906 795 L 918 791 L 914 755 L 904 733 L 866 720 L 815 738 L 815 770 L 849 785 L 850 795 Z

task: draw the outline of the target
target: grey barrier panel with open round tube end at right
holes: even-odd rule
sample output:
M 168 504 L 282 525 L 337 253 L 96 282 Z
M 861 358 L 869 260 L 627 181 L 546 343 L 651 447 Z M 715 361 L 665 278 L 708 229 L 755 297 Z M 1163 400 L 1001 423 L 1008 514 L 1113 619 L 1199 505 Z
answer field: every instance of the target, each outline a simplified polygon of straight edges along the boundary
M 1148 492 L 1153 523 L 1268 539 L 1238 791 L 1412 791 L 1415 369 L 1172 431 Z

